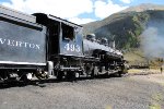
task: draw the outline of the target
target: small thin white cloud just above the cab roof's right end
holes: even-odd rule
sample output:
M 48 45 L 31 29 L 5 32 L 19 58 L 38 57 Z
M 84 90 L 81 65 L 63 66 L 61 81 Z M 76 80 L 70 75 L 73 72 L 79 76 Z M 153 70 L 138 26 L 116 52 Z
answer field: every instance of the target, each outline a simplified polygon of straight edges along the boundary
M 93 19 L 79 19 L 79 17 L 71 17 L 69 19 L 70 22 L 77 23 L 77 24 L 86 24 L 89 22 L 94 22 L 96 20 Z

